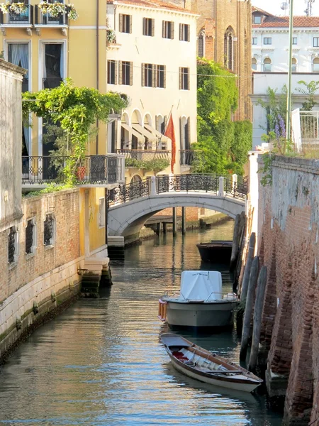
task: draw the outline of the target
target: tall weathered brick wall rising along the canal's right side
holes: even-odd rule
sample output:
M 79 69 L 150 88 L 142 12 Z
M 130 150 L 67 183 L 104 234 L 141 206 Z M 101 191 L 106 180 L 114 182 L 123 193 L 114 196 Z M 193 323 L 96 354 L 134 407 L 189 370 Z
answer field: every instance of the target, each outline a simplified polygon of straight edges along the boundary
M 259 185 L 258 252 L 268 271 L 261 344 L 269 394 L 286 394 L 285 425 L 319 424 L 318 194 L 316 160 L 276 157 L 272 186 Z

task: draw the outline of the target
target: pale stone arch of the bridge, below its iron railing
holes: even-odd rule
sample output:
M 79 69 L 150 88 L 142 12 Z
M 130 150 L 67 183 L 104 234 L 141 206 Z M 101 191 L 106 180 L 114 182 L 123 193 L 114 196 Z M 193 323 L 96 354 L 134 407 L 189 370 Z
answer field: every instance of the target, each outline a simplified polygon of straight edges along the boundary
M 199 207 L 216 210 L 235 218 L 245 211 L 245 200 L 232 197 L 212 196 L 209 193 L 172 192 L 138 198 L 108 210 L 108 232 L 111 236 L 132 236 L 153 214 L 169 207 Z

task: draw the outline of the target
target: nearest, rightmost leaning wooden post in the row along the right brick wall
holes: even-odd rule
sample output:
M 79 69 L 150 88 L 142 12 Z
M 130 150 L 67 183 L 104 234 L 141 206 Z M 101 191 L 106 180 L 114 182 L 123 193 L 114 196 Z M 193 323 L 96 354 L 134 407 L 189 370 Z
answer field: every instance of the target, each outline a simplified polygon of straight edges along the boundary
M 264 306 L 264 292 L 267 283 L 267 266 L 262 266 L 257 282 L 256 302 L 254 302 L 254 326 L 252 330 L 252 349 L 248 369 L 254 371 L 257 364 L 260 330 L 262 328 L 262 308 Z

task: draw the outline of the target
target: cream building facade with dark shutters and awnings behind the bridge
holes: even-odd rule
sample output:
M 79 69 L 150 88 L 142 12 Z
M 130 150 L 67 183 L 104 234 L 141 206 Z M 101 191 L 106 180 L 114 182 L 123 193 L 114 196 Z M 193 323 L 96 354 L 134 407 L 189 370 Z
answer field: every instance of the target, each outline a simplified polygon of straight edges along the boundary
M 107 90 L 126 94 L 130 100 L 121 120 L 108 124 L 108 152 L 121 151 L 128 161 L 161 158 L 170 162 L 172 141 L 163 133 L 172 113 L 173 170 L 175 174 L 189 170 L 186 153 L 197 133 L 197 17 L 157 0 L 107 2 Z M 159 173 L 170 172 L 168 165 Z M 126 182 L 153 173 L 130 167 Z

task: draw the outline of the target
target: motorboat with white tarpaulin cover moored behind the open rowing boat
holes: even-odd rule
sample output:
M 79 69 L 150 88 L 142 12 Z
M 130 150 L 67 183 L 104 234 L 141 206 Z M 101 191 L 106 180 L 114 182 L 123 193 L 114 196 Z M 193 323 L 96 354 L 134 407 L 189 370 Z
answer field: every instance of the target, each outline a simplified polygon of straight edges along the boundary
M 223 295 L 218 271 L 184 271 L 179 295 L 159 299 L 159 319 L 170 327 L 214 328 L 233 325 L 237 295 Z

